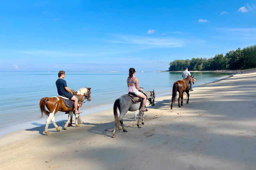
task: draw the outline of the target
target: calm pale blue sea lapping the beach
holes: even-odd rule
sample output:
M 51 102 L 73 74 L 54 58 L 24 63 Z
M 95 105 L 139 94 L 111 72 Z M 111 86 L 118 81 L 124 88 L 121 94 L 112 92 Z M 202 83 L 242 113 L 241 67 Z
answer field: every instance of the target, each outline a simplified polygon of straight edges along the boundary
M 154 89 L 156 97 L 159 97 L 171 93 L 173 83 L 182 80 L 181 74 L 136 72 L 135 76 L 139 78 L 140 87 L 150 91 Z M 192 75 L 196 79 L 194 86 L 198 86 L 230 74 L 195 72 Z M 65 80 L 69 89 L 76 91 L 91 87 L 92 100 L 82 106 L 83 116 L 112 108 L 114 101 L 128 92 L 127 77 L 128 72 L 66 72 Z M 24 129 L 45 124 L 45 117 L 38 119 L 41 115 L 39 101 L 43 97 L 58 96 L 55 85 L 57 79 L 58 72 L 0 72 L 0 135 L 13 131 L 10 128 L 6 131 L 12 125 Z M 62 117 L 58 118 L 58 115 Z M 67 120 L 66 117 L 63 113 L 57 113 L 55 120 Z

